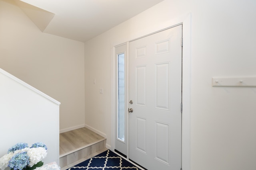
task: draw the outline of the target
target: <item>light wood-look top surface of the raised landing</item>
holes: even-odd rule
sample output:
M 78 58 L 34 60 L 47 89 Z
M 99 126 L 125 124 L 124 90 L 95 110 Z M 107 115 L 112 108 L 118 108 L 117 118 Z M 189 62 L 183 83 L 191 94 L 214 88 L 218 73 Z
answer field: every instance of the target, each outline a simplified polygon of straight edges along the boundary
M 103 140 L 104 137 L 86 127 L 60 133 L 60 157 Z

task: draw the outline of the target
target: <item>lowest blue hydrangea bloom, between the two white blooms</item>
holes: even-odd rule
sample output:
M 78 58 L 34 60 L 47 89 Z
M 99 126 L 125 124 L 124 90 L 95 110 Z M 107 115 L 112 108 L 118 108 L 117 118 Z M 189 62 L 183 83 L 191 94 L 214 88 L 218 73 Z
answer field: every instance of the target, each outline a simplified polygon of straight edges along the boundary
M 20 152 L 12 156 L 8 166 L 13 170 L 22 170 L 29 164 L 29 156 L 27 152 Z

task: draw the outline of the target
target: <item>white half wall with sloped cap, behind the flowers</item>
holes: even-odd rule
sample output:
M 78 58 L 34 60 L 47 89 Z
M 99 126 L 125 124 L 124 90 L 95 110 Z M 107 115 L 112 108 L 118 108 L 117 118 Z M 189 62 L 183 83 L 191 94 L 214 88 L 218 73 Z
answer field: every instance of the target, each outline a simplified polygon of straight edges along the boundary
M 59 164 L 60 102 L 0 69 L 0 157 L 13 145 L 47 146 L 45 164 Z

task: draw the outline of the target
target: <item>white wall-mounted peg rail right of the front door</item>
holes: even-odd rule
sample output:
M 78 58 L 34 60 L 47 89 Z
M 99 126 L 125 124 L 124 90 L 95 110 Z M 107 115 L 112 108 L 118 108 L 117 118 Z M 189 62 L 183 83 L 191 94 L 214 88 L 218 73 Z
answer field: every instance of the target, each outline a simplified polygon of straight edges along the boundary
M 256 87 L 256 77 L 213 77 L 212 86 Z

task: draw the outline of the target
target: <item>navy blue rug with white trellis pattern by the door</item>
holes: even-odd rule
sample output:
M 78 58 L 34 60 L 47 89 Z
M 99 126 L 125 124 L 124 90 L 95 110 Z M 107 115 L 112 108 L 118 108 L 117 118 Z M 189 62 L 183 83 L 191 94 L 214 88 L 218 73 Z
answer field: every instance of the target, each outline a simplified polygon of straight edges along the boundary
M 106 150 L 68 170 L 140 170 L 111 150 Z

